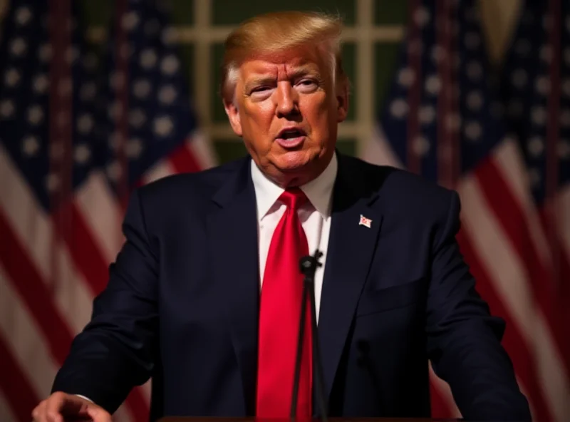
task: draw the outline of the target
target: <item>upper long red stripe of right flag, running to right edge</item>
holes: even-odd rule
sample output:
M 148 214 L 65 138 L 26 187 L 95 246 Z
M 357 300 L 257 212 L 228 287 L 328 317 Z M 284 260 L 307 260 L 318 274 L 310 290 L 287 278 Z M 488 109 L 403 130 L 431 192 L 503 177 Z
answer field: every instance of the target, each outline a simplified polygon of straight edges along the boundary
M 494 205 L 491 210 L 507 233 L 513 249 L 525 264 L 534 299 L 554 334 L 566 375 L 570 378 L 570 320 L 559 319 L 556 315 L 557 298 L 552 282 L 553 274 L 541 265 L 527 220 L 494 161 L 489 158 L 482 160 L 475 171 L 475 177 L 480 182 L 482 195 L 489 204 Z

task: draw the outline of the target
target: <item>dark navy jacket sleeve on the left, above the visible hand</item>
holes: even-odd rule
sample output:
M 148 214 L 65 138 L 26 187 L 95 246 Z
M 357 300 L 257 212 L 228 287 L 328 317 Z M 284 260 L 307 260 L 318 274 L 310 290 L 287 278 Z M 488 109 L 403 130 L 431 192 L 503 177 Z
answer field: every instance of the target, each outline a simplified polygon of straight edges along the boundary
M 92 319 L 73 340 L 52 388 L 86 396 L 111 413 L 149 379 L 155 359 L 158 259 L 137 191 L 123 233 L 108 286 L 95 298 Z

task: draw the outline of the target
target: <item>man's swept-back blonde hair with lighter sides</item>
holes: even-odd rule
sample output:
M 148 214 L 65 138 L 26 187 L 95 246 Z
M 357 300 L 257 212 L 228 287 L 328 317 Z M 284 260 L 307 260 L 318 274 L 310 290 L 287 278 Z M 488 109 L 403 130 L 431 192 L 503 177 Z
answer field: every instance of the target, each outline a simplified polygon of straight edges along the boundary
M 280 11 L 242 22 L 224 43 L 220 94 L 232 101 L 239 66 L 254 56 L 281 53 L 291 48 L 315 45 L 328 55 L 333 83 L 348 82 L 341 62 L 342 20 L 316 11 Z

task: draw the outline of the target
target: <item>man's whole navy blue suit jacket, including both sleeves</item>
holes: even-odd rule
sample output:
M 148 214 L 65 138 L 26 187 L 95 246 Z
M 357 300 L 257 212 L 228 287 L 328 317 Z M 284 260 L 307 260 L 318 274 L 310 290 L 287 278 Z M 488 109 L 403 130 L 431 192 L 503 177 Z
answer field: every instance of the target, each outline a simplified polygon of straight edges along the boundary
M 126 243 L 53 391 L 151 420 L 254 416 L 259 264 L 250 159 L 135 191 Z M 329 416 L 430 416 L 427 360 L 470 419 L 530 418 L 501 319 L 475 291 L 455 192 L 338 154 L 318 336 Z M 360 216 L 371 227 L 358 225 Z

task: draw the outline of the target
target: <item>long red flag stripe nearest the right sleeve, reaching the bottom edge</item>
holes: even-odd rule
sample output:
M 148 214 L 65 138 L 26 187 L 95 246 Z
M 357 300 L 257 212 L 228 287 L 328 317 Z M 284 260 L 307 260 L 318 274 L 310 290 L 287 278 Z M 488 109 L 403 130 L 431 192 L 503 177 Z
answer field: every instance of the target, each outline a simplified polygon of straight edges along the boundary
M 552 416 L 548 406 L 546 406 L 546 398 L 538 383 L 539 376 L 533 354 L 523 340 L 524 337 L 519 332 L 517 324 L 514 323 L 514 318 L 495 291 L 491 277 L 485 271 L 480 257 L 475 252 L 475 248 L 471 245 L 464 230 L 460 230 L 457 235 L 457 242 L 460 244 L 465 262 L 470 266 L 471 274 L 477 280 L 477 292 L 489 304 L 492 314 L 501 317 L 507 324 L 502 344 L 512 359 L 517 377 L 522 381 L 527 394 L 530 396 L 529 399 L 532 401 L 535 412 L 534 417 L 537 418 L 537 421 L 551 421 Z

